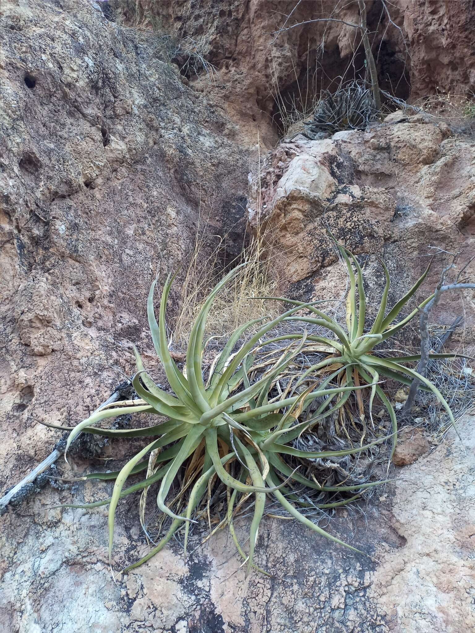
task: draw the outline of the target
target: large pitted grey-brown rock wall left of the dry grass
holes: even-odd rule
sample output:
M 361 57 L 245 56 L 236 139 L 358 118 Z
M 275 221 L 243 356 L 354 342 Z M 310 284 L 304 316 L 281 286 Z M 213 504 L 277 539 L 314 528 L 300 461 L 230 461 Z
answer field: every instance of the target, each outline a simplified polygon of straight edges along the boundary
M 153 349 L 151 280 L 190 252 L 200 204 L 210 234 L 239 224 L 248 158 L 222 109 L 98 5 L 1 10 L 4 490 L 59 439 L 37 420 L 87 416 L 131 345 Z

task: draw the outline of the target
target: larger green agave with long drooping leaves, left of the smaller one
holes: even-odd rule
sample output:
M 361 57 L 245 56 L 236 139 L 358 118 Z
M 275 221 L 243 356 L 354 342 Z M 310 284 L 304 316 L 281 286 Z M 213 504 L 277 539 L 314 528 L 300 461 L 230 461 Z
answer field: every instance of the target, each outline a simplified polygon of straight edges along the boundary
M 165 310 L 173 278 L 169 276 L 163 287 L 158 323 L 153 306 L 156 282 L 153 282 L 148 297 L 148 322 L 156 353 L 173 393 L 164 391 L 155 384 L 144 369 L 141 356 L 135 350 L 137 373 L 134 375 L 132 384 L 139 399 L 103 406 L 91 417 L 71 429 L 68 437 L 66 451 L 80 432 L 122 438 L 154 437 L 153 441 L 129 460 L 122 470 L 113 473 L 92 473 L 84 477 L 84 479 L 114 479 L 111 498 L 92 504 L 72 506 L 91 508 L 109 505 L 109 558 L 111 561 L 115 512 L 120 498 L 132 492 L 143 491 L 144 493 L 152 484 L 160 482 L 156 503 L 163 513 L 163 518 L 169 517 L 172 520 L 171 525 L 155 548 L 126 570 L 137 567 L 155 555 L 182 527 L 185 530 L 186 555 L 189 524 L 194 522 L 194 512 L 215 479 L 219 479 L 227 488 L 228 511 L 225 522 L 229 525 L 239 553 L 244 561 L 247 561 L 246 573 L 255 567 L 253 555 L 268 494 L 272 494 L 286 511 L 310 529 L 331 541 L 355 550 L 305 517 L 297 506 L 307 506 L 307 501 L 302 501 L 293 489 L 289 490 L 286 487 L 286 484 L 292 480 L 297 486 L 305 486 L 310 491 L 343 492 L 353 495 L 349 499 L 339 499 L 333 503 L 317 503 L 314 506 L 315 508 L 334 508 L 357 498 L 365 488 L 381 483 L 326 486 L 320 484 L 315 477 L 306 477 L 296 472 L 286 461 L 286 458 L 290 457 L 298 460 L 341 458 L 365 451 L 382 441 L 377 439 L 367 446 L 362 446 L 361 442 L 356 448 L 327 451 L 302 451 L 295 446 L 295 440 L 302 432 L 332 415 L 345 403 L 352 392 L 367 387 L 367 385 L 356 385 L 355 380 L 351 378 L 350 367 L 355 362 L 353 356 L 345 356 L 345 361 L 342 357 L 341 367 L 347 372 L 346 384 L 335 382 L 341 373 L 338 365 L 336 371 L 321 378 L 314 372 L 310 378 L 307 377 L 307 386 L 303 390 L 289 394 L 289 389 L 285 389 L 277 397 L 272 396 L 272 388 L 282 372 L 300 353 L 307 338 L 312 339 L 303 334 L 300 335 L 298 342 L 290 339 L 279 358 L 272 361 L 270 367 L 269 365 L 265 367 L 265 371 L 257 380 L 250 381 L 251 366 L 267 332 L 286 319 L 296 318 L 296 311 L 302 308 L 308 307 L 313 310 L 312 304 L 295 302 L 294 306 L 277 318 L 253 320 L 236 330 L 225 344 L 222 353 L 215 359 L 205 379 L 203 353 L 206 347 L 206 316 L 217 293 L 236 274 L 236 270 L 238 269 L 234 269 L 216 285 L 203 304 L 191 329 L 187 346 L 186 369 L 183 371 L 177 367 L 170 356 L 165 327 Z M 354 346 L 352 347 L 350 342 L 346 346 L 348 338 L 336 324 L 331 323 L 326 316 L 319 316 L 319 320 L 328 323 L 329 329 L 336 332 L 341 343 L 330 342 L 330 339 L 321 337 L 318 337 L 319 341 L 328 342 L 342 354 L 353 353 Z M 254 333 L 246 337 L 246 332 L 251 327 L 254 328 Z M 257 331 L 255 331 L 256 328 Z M 352 332 L 353 329 L 352 323 Z M 359 329 L 356 326 L 355 336 L 352 339 L 355 344 L 358 343 L 358 336 L 361 336 L 358 332 Z M 237 352 L 233 353 L 238 342 L 243 339 L 245 342 L 241 344 Z M 374 335 L 371 334 L 369 337 L 367 335 L 361 340 L 364 343 L 374 341 Z M 362 346 L 365 353 L 367 353 L 366 347 L 365 343 Z M 330 365 L 330 362 L 324 364 Z M 373 375 L 372 389 L 378 390 L 376 371 L 373 370 L 369 361 L 365 361 L 364 366 L 367 365 L 368 368 L 361 371 Z M 301 377 L 300 385 L 305 382 L 305 378 Z M 310 382 L 309 385 L 308 382 Z M 272 397 L 269 398 L 269 396 Z M 317 413 L 305 415 L 310 404 L 315 401 L 319 403 Z M 322 401 L 323 404 L 320 404 Z M 165 418 L 165 421 L 160 420 L 155 425 L 133 430 L 103 429 L 96 426 L 101 420 L 124 415 L 124 413 L 151 413 Z M 303 421 L 300 422 L 299 420 L 302 419 Z M 129 477 L 145 470 L 147 472 L 145 479 L 124 489 Z M 179 473 L 182 474 L 180 492 L 175 498 L 170 499 L 172 484 Z M 187 501 L 185 502 L 186 493 Z M 238 505 L 241 505 L 246 496 L 255 496 L 248 555 L 244 554 L 232 523 L 238 493 L 243 495 Z M 183 510 L 181 513 L 180 509 Z

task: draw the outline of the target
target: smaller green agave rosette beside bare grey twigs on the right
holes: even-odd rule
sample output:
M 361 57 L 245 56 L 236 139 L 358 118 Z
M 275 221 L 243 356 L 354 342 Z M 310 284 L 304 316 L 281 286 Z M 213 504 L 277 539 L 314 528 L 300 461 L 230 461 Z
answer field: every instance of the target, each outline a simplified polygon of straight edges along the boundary
M 333 239 L 333 238 L 332 238 Z M 346 298 L 346 330 L 339 325 L 333 318 L 327 316 L 324 312 L 320 311 L 315 305 L 303 304 L 300 301 L 293 301 L 285 298 L 269 298 L 279 301 L 285 301 L 301 308 L 307 308 L 313 314 L 312 316 L 285 316 L 284 320 L 298 320 L 305 323 L 311 323 L 312 325 L 318 325 L 324 327 L 334 338 L 322 337 L 322 336 L 310 336 L 306 335 L 308 341 L 317 341 L 326 344 L 331 349 L 331 354 L 320 360 L 315 365 L 305 371 L 300 380 L 296 383 L 298 387 L 299 382 L 305 380 L 308 375 L 318 373 L 324 373 L 325 368 L 331 366 L 334 370 L 337 367 L 339 376 L 337 379 L 338 384 L 346 385 L 346 387 L 357 387 L 360 385 L 360 378 L 363 382 L 371 385 L 371 396 L 369 398 L 369 416 L 372 421 L 372 406 L 374 398 L 377 396 L 384 408 L 388 412 L 392 430 L 393 430 L 393 448 L 391 456 L 393 455 L 396 447 L 397 439 L 397 421 L 396 413 L 390 402 L 388 396 L 384 393 L 381 385 L 379 384 L 380 377 L 390 378 L 396 380 L 403 385 L 412 384 L 412 380 L 419 379 L 422 383 L 422 389 L 425 391 L 431 391 L 435 394 L 436 398 L 443 404 L 445 410 L 450 417 L 452 423 L 455 422 L 453 418 L 452 410 L 448 405 L 445 398 L 443 398 L 441 392 L 437 389 L 436 385 L 431 382 L 425 376 L 417 373 L 414 368 L 409 367 L 408 363 L 415 363 L 421 360 L 420 354 L 414 354 L 412 356 L 383 356 L 381 353 L 374 349 L 376 346 L 393 337 L 400 332 L 410 321 L 419 314 L 419 310 L 424 308 L 426 304 L 434 297 L 433 294 L 427 299 L 424 299 L 417 308 L 412 310 L 409 315 L 402 318 L 399 322 L 395 322 L 401 311 L 410 299 L 414 296 L 415 292 L 419 289 L 424 279 L 426 279 L 431 264 L 426 268 L 421 277 L 417 279 L 412 288 L 391 308 L 386 314 L 386 307 L 388 303 L 388 294 L 390 291 L 390 274 L 388 268 L 384 264 L 383 260 L 379 260 L 381 266 L 383 266 L 384 275 L 386 278 L 386 284 L 384 285 L 383 296 L 381 298 L 381 305 L 376 315 L 376 319 L 372 324 L 366 322 L 366 298 L 363 284 L 363 275 L 361 266 L 358 263 L 357 258 L 348 251 L 343 245 L 339 244 L 335 240 L 334 244 L 338 248 L 343 260 L 345 261 L 348 275 L 350 277 L 350 289 Z M 353 272 L 353 265 L 357 271 L 357 274 Z M 357 291 L 358 291 L 358 309 L 357 309 Z M 286 338 L 299 339 L 303 337 L 302 334 L 288 334 Z M 274 340 L 278 340 L 281 337 L 277 337 Z M 457 358 L 459 354 L 429 354 L 431 360 L 438 360 L 443 358 Z M 335 373 L 335 372 L 334 372 Z M 333 375 L 334 375 L 333 373 Z M 351 389 L 346 391 L 343 395 L 339 406 L 343 406 L 343 403 L 348 399 L 351 394 Z M 364 406 L 360 399 L 360 414 L 364 415 Z M 325 401 L 317 410 L 320 413 L 325 410 L 327 401 Z

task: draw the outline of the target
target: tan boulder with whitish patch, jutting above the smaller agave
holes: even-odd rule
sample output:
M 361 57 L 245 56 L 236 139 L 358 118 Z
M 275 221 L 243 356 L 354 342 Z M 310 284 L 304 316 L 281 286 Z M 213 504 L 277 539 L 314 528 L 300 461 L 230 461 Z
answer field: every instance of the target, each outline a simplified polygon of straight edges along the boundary
M 254 175 L 250 221 L 272 229 L 282 280 L 306 300 L 336 298 L 346 287 L 327 228 L 353 253 L 369 256 L 360 261 L 366 263 L 370 293 L 371 285 L 384 285 L 375 255 L 390 265 L 400 297 L 435 254 L 422 291 L 428 296 L 448 261 L 443 251 L 460 251 L 459 266 L 474 251 L 474 156 L 471 138 L 453 135 L 445 123 L 400 112 L 366 131 L 337 132 L 331 139 L 299 135 L 268 154 L 260 180 Z M 472 261 L 467 273 L 474 272 Z M 376 291 L 372 303 L 378 296 Z M 441 323 L 466 310 L 466 342 L 472 343 L 474 291 L 446 293 L 440 307 Z

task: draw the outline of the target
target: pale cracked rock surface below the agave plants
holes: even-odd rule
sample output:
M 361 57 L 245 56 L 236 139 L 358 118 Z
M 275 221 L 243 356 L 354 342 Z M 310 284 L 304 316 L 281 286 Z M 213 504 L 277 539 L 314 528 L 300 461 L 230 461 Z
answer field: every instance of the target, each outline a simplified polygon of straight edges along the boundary
M 257 564 L 244 570 L 224 531 L 186 566 L 172 543 L 143 567 L 111 580 L 106 510 L 46 510 L 101 496 L 91 482 L 46 490 L 3 517 L 1 622 L 19 633 L 94 630 L 160 633 L 458 633 L 475 627 L 475 425 L 459 422 L 433 453 L 398 469 L 391 503 L 346 513 L 329 529 L 370 553 L 353 555 L 293 522 L 267 518 Z M 104 496 L 106 496 L 104 491 Z M 246 520 L 237 524 L 244 541 Z M 143 542 L 136 501 L 119 506 L 115 560 Z M 206 527 L 203 527 L 206 535 Z

